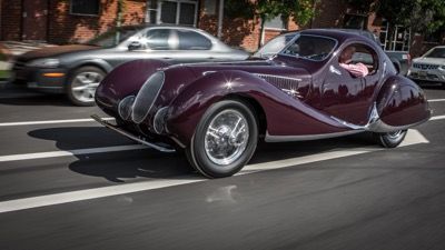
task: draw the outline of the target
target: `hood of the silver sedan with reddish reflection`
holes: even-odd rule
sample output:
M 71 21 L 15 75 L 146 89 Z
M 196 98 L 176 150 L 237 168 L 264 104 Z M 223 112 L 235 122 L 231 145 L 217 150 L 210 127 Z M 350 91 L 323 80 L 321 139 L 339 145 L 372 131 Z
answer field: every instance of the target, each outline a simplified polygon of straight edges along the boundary
M 96 46 L 83 46 L 83 44 L 71 44 L 71 46 L 57 46 L 57 47 L 47 47 L 33 51 L 29 51 L 23 53 L 18 58 L 20 61 L 30 61 L 40 58 L 52 58 L 58 57 L 66 53 L 86 51 L 98 49 Z

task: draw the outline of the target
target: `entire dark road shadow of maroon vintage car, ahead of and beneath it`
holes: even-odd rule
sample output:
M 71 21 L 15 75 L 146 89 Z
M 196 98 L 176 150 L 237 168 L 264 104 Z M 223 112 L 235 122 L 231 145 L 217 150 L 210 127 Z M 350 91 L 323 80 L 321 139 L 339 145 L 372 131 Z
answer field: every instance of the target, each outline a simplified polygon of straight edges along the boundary
M 70 152 L 78 152 L 79 149 L 135 144 L 127 138 L 102 127 L 38 129 L 28 134 L 33 138 L 55 141 L 58 149 Z M 264 163 L 330 150 L 353 150 L 369 146 L 377 147 L 368 134 L 317 141 L 260 143 L 249 163 Z M 111 182 L 126 182 L 140 178 L 199 177 L 191 169 L 184 153 L 162 153 L 152 149 L 142 149 L 103 153 L 75 153 L 75 157 L 77 160 L 69 163 L 69 170 L 85 176 L 105 178 Z

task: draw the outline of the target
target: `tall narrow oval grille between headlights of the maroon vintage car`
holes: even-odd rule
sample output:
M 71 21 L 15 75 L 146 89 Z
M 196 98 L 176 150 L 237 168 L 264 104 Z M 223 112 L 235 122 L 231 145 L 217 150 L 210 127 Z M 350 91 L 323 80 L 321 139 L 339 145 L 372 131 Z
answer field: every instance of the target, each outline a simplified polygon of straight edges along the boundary
M 158 71 L 148 78 L 146 83 L 139 90 L 135 99 L 135 104 L 132 106 L 131 119 L 136 123 L 142 122 L 154 106 L 159 91 L 162 88 L 165 80 L 165 74 L 162 71 Z

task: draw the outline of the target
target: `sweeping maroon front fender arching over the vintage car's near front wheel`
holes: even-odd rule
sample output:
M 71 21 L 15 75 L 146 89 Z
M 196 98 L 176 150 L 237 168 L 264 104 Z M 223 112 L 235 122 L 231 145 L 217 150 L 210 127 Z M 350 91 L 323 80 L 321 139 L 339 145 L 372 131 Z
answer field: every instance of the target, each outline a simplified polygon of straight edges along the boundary
M 254 99 L 266 114 L 267 132 L 273 136 L 300 136 L 343 132 L 347 127 L 266 80 L 240 70 L 208 73 L 187 88 L 170 103 L 166 132 L 187 146 L 204 112 L 219 100 L 237 96 Z

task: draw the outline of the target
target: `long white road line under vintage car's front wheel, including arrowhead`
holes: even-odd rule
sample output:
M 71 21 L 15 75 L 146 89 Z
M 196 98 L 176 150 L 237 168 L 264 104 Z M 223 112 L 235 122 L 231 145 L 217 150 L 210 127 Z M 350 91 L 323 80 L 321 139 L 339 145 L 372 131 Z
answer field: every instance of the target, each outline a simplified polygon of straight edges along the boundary
M 417 143 L 427 143 L 428 140 L 422 136 L 416 130 L 409 130 L 408 134 L 406 136 L 406 142 L 404 146 L 417 144 Z M 400 146 L 400 147 L 404 147 Z M 269 161 L 264 163 L 257 164 L 248 164 L 244 168 L 244 170 L 238 174 L 248 174 L 258 171 L 265 170 L 273 170 L 273 169 L 281 169 L 288 168 L 305 163 L 314 163 L 330 159 L 338 159 L 344 157 L 357 156 L 362 153 L 373 152 L 382 150 L 379 148 L 360 148 L 360 149 L 350 149 L 350 150 L 338 150 L 338 151 L 330 151 L 330 152 L 323 152 L 323 153 L 314 153 L 306 157 L 297 157 L 293 159 L 286 160 L 278 160 L 278 161 Z M 128 184 L 119 184 L 119 186 L 111 186 L 111 187 L 103 187 L 103 188 L 95 188 L 95 189 L 86 189 L 86 190 L 78 190 L 78 191 L 70 191 L 70 192 L 62 192 L 62 193 L 55 193 L 55 194 L 47 194 L 40 197 L 31 197 L 31 198 L 23 198 L 17 200 L 9 200 L 0 202 L 0 213 L 3 212 L 11 212 L 11 211 L 19 211 L 24 209 L 32 209 L 32 208 L 41 208 L 55 204 L 62 204 L 69 203 L 75 201 L 85 201 L 105 197 L 112 197 L 119 194 L 127 194 L 140 191 L 148 191 L 154 189 L 161 189 L 168 187 L 175 187 L 180 184 L 188 184 L 195 183 L 200 181 L 206 181 L 207 179 L 204 178 L 181 178 L 181 179 L 162 179 L 162 180 L 155 180 L 155 181 L 144 181 L 137 183 L 128 183 Z

